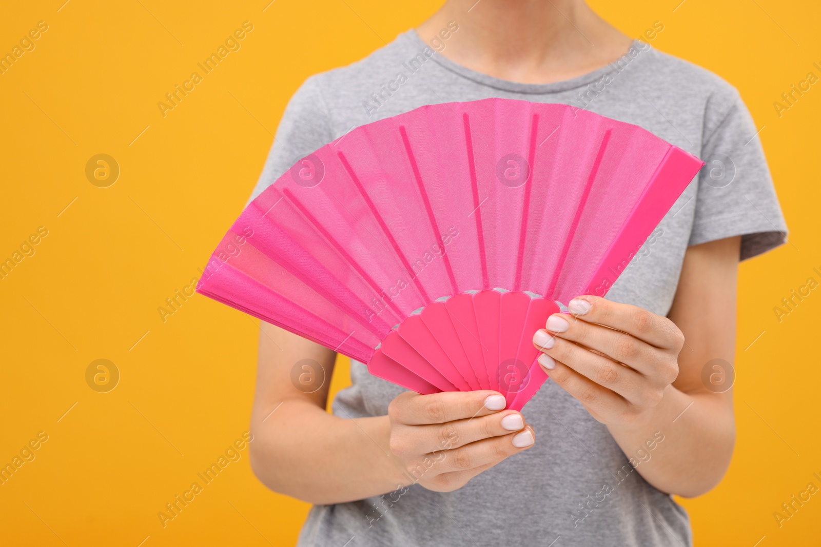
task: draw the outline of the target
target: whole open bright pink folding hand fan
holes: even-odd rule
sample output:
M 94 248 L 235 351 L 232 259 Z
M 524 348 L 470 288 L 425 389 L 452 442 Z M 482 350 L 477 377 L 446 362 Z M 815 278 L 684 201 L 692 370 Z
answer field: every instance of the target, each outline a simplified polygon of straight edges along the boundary
M 547 379 L 534 332 L 606 294 L 702 165 L 564 104 L 420 107 L 296 162 L 197 292 L 410 390 L 498 390 L 518 410 Z

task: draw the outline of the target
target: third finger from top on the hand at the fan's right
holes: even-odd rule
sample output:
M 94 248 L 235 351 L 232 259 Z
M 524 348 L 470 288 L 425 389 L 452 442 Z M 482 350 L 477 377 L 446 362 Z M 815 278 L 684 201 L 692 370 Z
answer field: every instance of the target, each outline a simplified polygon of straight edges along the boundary
M 543 334 L 539 336 L 539 333 Z M 538 330 L 534 340 L 541 340 L 544 336 L 549 336 L 549 333 Z M 570 367 L 587 379 L 608 390 L 615 391 L 631 403 L 639 403 L 643 398 L 647 385 L 644 376 L 611 358 L 593 353 L 587 348 L 558 336 L 550 338 L 547 344 L 542 346 L 542 353 L 552 358 L 553 362 L 562 362 L 566 367 Z M 542 362 L 546 365 L 552 364 L 544 358 Z

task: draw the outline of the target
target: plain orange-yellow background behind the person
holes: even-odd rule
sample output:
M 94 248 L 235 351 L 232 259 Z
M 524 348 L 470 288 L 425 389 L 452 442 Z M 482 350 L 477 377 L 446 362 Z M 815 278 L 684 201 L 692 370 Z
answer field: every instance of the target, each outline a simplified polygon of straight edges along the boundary
M 296 540 L 309 506 L 266 490 L 250 472 L 247 448 L 178 517 L 160 523 L 165 504 L 248 429 L 257 321 L 199 295 L 164 322 L 158 307 L 199 276 L 241 212 L 282 109 L 305 77 L 364 57 L 442 0 L 268 1 L 3 7 L 0 53 L 38 21 L 48 24 L 34 50 L 0 75 L 0 260 L 39 226 L 48 230 L 0 280 L 0 464 L 39 431 L 48 435 L 34 460 L 0 485 L 4 544 Z M 821 280 L 813 271 L 821 270 L 821 87 L 780 117 L 773 107 L 808 72 L 821 75 L 812 66 L 821 64 L 821 7 L 679 2 L 591 5 L 631 36 L 661 21 L 654 47 L 741 90 L 764 125 L 791 228 L 791 244 L 741 266 L 736 454 L 718 488 L 683 503 L 696 545 L 821 545 L 821 495 L 781 528 L 773 517 L 808 482 L 821 486 L 812 476 L 821 475 L 821 293 L 781 322 L 773 312 L 807 278 Z M 241 49 L 163 117 L 158 101 L 243 21 L 254 30 Z M 107 188 L 85 176 L 99 153 L 121 171 Z M 100 358 L 120 374 L 107 393 L 86 383 L 89 363 Z M 334 390 L 348 383 L 347 370 L 341 359 Z

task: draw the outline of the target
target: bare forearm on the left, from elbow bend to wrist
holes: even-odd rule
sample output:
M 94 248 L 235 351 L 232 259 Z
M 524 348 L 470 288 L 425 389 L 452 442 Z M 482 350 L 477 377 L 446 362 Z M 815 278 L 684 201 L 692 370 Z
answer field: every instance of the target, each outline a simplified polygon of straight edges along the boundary
M 251 432 L 259 480 L 312 504 L 365 499 L 411 482 L 388 447 L 387 416 L 346 419 L 287 399 L 267 418 L 252 417 Z

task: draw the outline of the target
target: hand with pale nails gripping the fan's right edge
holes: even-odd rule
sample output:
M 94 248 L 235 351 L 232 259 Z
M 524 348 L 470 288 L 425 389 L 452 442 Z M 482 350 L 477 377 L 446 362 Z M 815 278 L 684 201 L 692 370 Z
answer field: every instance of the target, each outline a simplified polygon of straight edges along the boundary
M 645 309 L 580 296 L 548 317 L 533 342 L 548 376 L 599 422 L 646 417 L 678 376 L 681 330 Z

